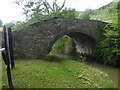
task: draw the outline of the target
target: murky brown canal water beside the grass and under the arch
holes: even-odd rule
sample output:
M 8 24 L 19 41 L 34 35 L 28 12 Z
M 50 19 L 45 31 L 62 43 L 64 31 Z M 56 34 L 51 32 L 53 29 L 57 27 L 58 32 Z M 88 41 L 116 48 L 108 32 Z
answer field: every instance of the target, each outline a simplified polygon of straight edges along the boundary
M 56 54 L 55 56 L 63 59 L 72 59 L 76 60 L 76 57 L 74 56 L 69 56 L 69 55 L 63 55 L 63 54 Z M 76 61 L 80 61 L 80 59 L 77 58 Z M 81 61 L 80 61 L 81 62 Z M 107 73 L 109 78 L 116 83 L 118 87 L 120 87 L 120 69 L 117 67 L 111 67 L 107 66 L 101 63 L 96 62 L 95 60 L 85 60 L 84 61 L 86 64 L 92 66 L 95 69 L 98 69 L 104 73 Z

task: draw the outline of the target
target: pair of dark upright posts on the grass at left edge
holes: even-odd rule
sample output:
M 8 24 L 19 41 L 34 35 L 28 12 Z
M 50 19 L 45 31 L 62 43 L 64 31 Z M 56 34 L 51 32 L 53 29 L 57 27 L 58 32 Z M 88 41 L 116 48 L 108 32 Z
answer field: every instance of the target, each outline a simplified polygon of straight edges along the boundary
M 2 57 L 7 65 L 7 77 L 9 89 L 13 89 L 12 77 L 11 77 L 11 68 L 15 67 L 14 64 L 14 53 L 12 45 L 12 31 L 11 28 L 4 26 L 3 30 L 3 43 L 2 43 Z

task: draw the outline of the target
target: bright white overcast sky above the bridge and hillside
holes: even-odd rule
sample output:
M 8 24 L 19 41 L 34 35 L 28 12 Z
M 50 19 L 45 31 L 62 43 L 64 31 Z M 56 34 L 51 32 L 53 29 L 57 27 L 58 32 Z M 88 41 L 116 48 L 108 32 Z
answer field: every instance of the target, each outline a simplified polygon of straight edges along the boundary
M 24 20 L 22 15 L 22 7 L 13 4 L 14 0 L 0 0 L 0 20 L 3 24 L 18 20 Z M 47 0 L 53 2 L 53 0 Z M 57 0 L 61 5 L 64 0 Z M 86 9 L 98 9 L 114 0 L 66 0 L 66 7 L 74 8 L 77 11 L 84 11 Z

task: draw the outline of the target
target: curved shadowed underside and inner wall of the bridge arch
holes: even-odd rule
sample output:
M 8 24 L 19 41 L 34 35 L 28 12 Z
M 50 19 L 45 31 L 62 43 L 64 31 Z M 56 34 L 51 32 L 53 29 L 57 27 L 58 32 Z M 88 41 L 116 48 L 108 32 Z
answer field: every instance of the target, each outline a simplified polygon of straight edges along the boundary
M 53 39 L 53 41 L 51 41 L 49 44 L 48 53 L 51 52 L 52 46 L 55 44 L 55 42 L 65 35 L 69 36 L 74 42 L 73 46 L 76 49 L 76 52 L 81 54 L 89 54 L 89 55 L 92 54 L 92 48 L 95 46 L 96 41 L 92 37 L 82 34 L 80 32 L 68 32 L 68 33 L 64 33 L 62 35 L 56 36 L 55 39 Z M 82 49 L 84 49 L 84 51 Z M 88 51 L 86 52 L 85 49 L 87 49 Z

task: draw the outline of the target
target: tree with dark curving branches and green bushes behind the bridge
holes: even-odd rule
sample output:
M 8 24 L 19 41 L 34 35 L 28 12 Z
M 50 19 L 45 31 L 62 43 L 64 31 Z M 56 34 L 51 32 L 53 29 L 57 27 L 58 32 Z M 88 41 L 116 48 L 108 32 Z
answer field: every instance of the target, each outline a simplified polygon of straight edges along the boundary
M 57 4 L 57 0 L 54 0 L 52 5 L 50 5 L 47 0 L 29 0 L 23 7 L 23 14 L 26 15 L 26 21 L 23 26 L 40 22 L 52 17 L 77 17 L 75 9 L 65 8 L 65 1 L 66 0 L 63 1 L 62 6 L 59 6 Z M 21 5 L 23 1 L 17 0 L 16 3 Z

